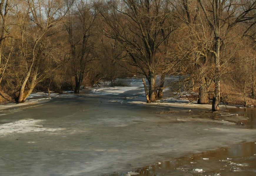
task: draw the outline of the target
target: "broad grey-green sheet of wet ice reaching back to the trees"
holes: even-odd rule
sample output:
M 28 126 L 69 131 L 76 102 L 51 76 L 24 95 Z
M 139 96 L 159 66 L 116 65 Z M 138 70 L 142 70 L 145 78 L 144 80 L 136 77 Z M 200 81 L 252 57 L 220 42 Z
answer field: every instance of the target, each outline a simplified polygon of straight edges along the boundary
M 157 175 L 207 175 L 207 167 L 222 168 L 218 163 L 246 172 L 255 169 L 243 162 L 244 156 L 235 161 L 232 155 L 199 154 L 200 158 L 187 160 L 186 167 L 174 165 L 175 160 L 184 163 L 180 157 L 189 153 L 256 141 L 256 131 L 220 119 L 207 105 L 145 104 L 140 82 L 133 79 L 130 87 L 99 87 L 81 95 L 32 94 L 25 104 L 1 105 L 0 175 L 128 176 L 147 169 Z M 178 113 L 161 113 L 168 111 Z M 255 160 L 254 154 L 248 157 Z M 227 158 L 238 165 L 222 161 Z M 168 170 L 168 163 L 174 169 Z M 137 169 L 150 164 L 155 170 Z

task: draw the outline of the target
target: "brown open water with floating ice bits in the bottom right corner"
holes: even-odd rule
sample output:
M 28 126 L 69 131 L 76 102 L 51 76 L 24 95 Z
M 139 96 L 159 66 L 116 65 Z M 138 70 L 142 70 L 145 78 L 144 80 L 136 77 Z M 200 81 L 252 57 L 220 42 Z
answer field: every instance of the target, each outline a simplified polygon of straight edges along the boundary
M 255 176 L 256 143 L 247 142 L 230 148 L 196 153 L 154 163 L 133 172 L 137 172 L 138 176 Z M 127 176 L 127 173 L 114 173 L 111 176 Z

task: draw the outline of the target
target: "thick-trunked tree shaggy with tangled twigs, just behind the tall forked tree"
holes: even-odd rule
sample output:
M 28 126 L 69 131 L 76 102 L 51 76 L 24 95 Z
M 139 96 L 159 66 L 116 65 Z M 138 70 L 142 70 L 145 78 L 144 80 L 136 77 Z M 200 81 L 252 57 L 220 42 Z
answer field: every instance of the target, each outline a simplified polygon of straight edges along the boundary
M 172 2 L 172 1 L 171 1 Z M 205 29 L 204 29 L 204 18 L 202 18 L 200 5 L 197 0 L 179 0 L 174 1 L 173 6 L 175 11 L 173 16 L 178 18 L 183 27 L 181 31 L 185 33 L 182 36 L 181 41 L 178 42 L 182 57 L 186 57 L 189 61 L 188 70 L 191 74 L 190 78 L 192 82 L 198 82 L 199 94 L 197 104 L 207 104 L 211 77 L 209 74 L 209 58 L 205 50 Z

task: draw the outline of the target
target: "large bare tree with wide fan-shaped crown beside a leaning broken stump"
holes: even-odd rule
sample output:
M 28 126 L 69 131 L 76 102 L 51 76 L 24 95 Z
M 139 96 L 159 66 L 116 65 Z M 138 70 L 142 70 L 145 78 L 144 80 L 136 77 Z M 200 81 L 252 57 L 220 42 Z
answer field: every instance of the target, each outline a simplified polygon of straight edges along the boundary
M 167 22 L 172 20 L 168 2 L 123 0 L 101 4 L 98 10 L 108 25 L 104 28 L 105 34 L 121 43 L 127 53 L 124 60 L 138 67 L 147 78 L 149 102 L 156 101 L 155 79 L 162 58 L 159 48 L 176 29 Z M 168 32 L 163 36 L 161 32 L 166 29 Z

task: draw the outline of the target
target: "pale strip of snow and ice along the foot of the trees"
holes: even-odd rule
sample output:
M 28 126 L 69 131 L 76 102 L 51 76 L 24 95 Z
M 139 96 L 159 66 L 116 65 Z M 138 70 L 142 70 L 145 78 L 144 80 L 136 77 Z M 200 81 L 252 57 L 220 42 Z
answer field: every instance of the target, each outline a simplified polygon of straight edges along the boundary
M 177 76 L 168 77 L 168 80 L 170 81 L 177 81 Z M 87 94 L 84 94 L 84 91 L 82 90 L 79 95 L 86 95 L 86 96 L 110 96 L 112 98 L 109 99 L 110 103 L 128 103 L 128 104 L 147 104 L 146 98 L 145 98 L 145 92 L 144 87 L 142 83 L 141 78 L 126 78 L 122 79 L 122 82 L 125 82 L 129 86 L 126 87 L 111 87 L 109 82 L 105 83 L 105 86 L 102 87 L 88 87 L 86 89 Z M 164 92 L 168 91 L 165 90 Z M 31 93 L 29 97 L 26 99 L 24 103 L 21 104 L 15 104 L 10 103 L 6 105 L 0 105 L 0 111 L 3 109 L 8 108 L 16 108 L 21 107 L 24 105 L 31 105 L 36 103 L 42 103 L 43 101 L 49 101 L 53 97 L 77 97 L 79 96 L 77 94 L 73 94 L 72 91 L 65 91 L 64 94 L 58 94 L 58 93 L 48 93 L 45 92 L 37 92 L 37 93 Z M 155 103 L 150 103 L 151 105 L 160 105 L 160 106 L 172 106 L 177 108 L 190 108 L 190 109 L 202 109 L 202 110 L 211 110 L 211 104 L 196 104 L 196 101 L 190 103 L 186 96 L 179 97 L 177 95 L 176 97 L 171 98 L 163 98 L 161 101 L 157 101 Z M 148 104 L 147 104 L 148 105 Z M 220 109 L 226 109 L 227 108 L 236 108 L 235 106 L 225 106 L 220 105 Z

